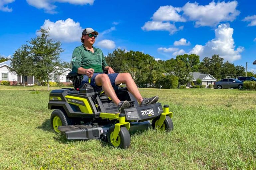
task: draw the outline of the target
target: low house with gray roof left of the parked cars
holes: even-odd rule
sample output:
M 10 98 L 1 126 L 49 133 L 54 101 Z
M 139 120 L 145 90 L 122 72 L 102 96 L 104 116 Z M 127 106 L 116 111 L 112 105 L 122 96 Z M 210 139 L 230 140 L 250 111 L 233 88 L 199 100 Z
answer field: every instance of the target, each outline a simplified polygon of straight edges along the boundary
M 214 78 L 212 75 L 210 74 L 202 74 L 199 72 L 191 72 L 192 75 L 192 81 L 193 83 L 196 85 L 196 80 L 199 78 L 202 82 L 201 84 L 197 84 L 197 85 L 205 85 L 205 88 L 209 87 L 209 84 L 214 84 L 214 82 L 217 81 L 216 78 Z M 188 87 L 191 87 L 191 82 L 189 82 L 187 84 Z

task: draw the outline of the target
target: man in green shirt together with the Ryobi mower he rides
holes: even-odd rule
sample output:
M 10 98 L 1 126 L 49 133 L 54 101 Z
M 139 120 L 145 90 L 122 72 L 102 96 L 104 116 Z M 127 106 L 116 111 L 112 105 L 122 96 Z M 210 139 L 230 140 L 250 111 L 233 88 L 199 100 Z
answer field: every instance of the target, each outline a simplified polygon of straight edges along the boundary
M 98 32 L 86 28 L 83 44 L 74 49 L 72 71 L 67 78 L 74 89 L 53 90 L 49 109 L 55 109 L 51 123 L 67 139 L 101 139 L 112 146 L 128 148 L 130 133 L 150 126 L 171 131 L 172 112 L 162 108 L 158 96 L 142 98 L 129 73 L 115 73 L 102 51 L 92 45 Z M 103 70 L 106 71 L 105 74 Z M 125 83 L 127 88 L 118 89 Z

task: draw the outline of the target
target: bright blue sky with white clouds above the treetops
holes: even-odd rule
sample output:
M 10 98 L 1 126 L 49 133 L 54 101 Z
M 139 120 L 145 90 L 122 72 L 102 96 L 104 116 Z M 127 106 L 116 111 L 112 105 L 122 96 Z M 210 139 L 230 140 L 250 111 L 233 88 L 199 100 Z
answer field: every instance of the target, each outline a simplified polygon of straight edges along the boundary
M 255 8 L 255 0 L 0 0 L 0 55 L 11 57 L 50 28 L 50 38 L 62 43 L 61 59 L 70 62 L 82 30 L 91 27 L 104 55 L 117 48 L 155 60 L 219 54 L 256 72 Z

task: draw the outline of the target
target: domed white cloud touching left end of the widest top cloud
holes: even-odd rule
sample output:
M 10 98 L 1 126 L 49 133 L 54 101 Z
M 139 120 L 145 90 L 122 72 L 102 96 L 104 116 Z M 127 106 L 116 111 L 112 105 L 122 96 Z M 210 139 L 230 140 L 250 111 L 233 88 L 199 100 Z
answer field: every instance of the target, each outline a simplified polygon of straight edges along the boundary
M 186 19 L 180 16 L 178 13 L 182 11 L 182 8 L 175 8 L 173 6 L 161 6 L 154 14 L 153 21 L 175 21 L 185 22 Z

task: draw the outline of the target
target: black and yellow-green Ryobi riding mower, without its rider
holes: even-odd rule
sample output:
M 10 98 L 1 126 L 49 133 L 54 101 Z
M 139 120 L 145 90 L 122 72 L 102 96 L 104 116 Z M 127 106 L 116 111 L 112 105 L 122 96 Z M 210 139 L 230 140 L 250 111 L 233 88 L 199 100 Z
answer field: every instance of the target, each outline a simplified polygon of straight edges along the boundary
M 149 129 L 173 130 L 173 113 L 160 103 L 139 106 L 127 88 L 115 90 L 120 101 L 130 107 L 119 112 L 118 106 L 102 91 L 97 92 L 87 83 L 80 85 L 81 75 L 70 72 L 66 78 L 74 88 L 62 88 L 50 93 L 48 109 L 54 109 L 51 126 L 64 132 L 68 140 L 100 139 L 114 147 L 130 146 L 130 133 Z M 152 124 L 150 123 L 152 120 Z

